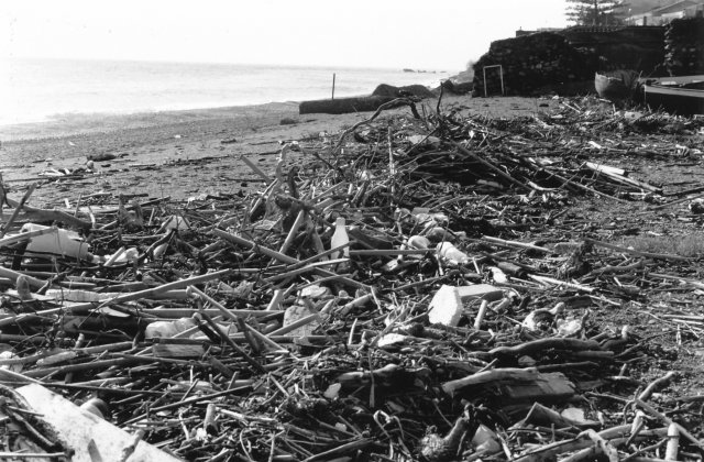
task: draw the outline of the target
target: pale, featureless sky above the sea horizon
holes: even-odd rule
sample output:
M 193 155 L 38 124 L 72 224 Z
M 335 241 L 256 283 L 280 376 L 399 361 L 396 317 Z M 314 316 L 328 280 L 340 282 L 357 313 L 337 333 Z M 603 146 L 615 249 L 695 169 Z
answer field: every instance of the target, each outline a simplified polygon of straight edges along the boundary
M 0 0 L 0 56 L 460 70 L 565 0 Z

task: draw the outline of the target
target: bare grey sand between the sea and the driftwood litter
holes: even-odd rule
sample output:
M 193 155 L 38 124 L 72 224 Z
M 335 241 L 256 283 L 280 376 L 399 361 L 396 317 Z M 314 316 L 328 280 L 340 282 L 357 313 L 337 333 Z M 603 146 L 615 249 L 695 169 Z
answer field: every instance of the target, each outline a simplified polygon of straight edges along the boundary
M 426 100 L 435 111 L 437 100 Z M 549 98 L 471 98 L 442 100 L 455 108 L 490 117 L 532 116 L 557 102 Z M 409 113 L 408 108 L 386 112 Z M 205 195 L 243 195 L 263 189 L 263 180 L 242 161 L 246 155 L 273 174 L 280 142 L 334 134 L 369 119 L 372 112 L 342 116 L 298 114 L 298 103 L 153 112 L 130 116 L 84 114 L 50 122 L 0 127 L 0 170 L 10 197 L 19 199 L 30 184 L 37 188 L 34 207 L 75 207 L 89 197 L 170 197 L 186 200 Z M 294 124 L 280 124 L 290 119 Z M 85 168 L 89 156 L 114 155 L 95 162 L 95 174 L 47 178 L 52 169 Z M 306 162 L 293 156 L 292 163 Z M 88 199 L 87 199 L 88 198 Z M 141 199 L 142 200 L 142 199 Z

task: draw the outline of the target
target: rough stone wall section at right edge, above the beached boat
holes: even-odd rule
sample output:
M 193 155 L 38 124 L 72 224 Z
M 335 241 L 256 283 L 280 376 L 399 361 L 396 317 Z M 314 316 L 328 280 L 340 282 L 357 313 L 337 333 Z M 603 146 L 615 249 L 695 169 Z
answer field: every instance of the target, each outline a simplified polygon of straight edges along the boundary
M 704 74 L 704 18 L 675 19 L 664 33 L 664 63 L 672 76 Z

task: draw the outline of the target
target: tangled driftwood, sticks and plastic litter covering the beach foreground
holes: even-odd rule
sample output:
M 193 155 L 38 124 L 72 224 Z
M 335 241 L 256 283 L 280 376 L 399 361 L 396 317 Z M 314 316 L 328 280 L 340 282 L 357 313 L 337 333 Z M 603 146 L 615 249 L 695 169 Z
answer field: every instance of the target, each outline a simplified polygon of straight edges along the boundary
M 661 297 L 701 255 L 585 207 L 689 213 L 701 189 L 609 162 L 703 122 L 422 109 L 284 143 L 245 197 L 8 197 L 0 457 L 702 460 L 704 389 L 669 369 L 704 317 Z

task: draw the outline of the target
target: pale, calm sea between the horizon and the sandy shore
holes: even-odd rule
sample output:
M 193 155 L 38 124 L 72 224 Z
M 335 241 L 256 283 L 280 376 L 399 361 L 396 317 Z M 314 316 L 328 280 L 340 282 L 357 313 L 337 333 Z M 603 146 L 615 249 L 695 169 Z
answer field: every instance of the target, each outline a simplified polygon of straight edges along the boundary
M 218 108 L 437 86 L 447 73 L 238 64 L 0 59 L 0 125 L 66 114 Z

